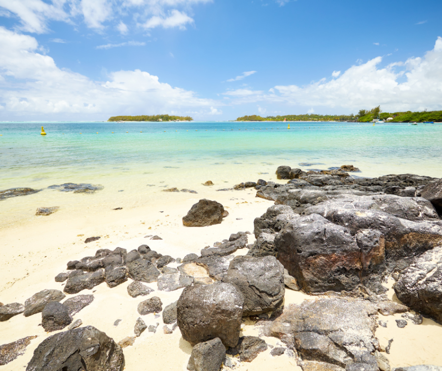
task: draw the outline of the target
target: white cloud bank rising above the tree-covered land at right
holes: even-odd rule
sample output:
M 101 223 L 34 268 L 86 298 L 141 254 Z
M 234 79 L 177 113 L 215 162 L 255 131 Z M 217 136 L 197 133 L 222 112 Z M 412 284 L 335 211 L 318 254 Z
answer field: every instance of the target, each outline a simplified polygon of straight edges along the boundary
M 234 104 L 266 101 L 347 111 L 381 105 L 384 110 L 442 109 L 442 37 L 423 57 L 380 67 L 382 57 L 350 67 L 331 79 L 306 86 L 275 86 L 269 93 L 239 89 Z

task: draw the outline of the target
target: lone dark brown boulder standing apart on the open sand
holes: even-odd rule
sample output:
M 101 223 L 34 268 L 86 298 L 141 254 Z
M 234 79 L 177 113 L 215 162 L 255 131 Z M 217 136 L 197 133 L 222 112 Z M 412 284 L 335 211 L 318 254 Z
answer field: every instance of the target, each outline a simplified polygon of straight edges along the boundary
M 220 224 L 223 213 L 224 207 L 221 203 L 203 198 L 195 203 L 187 215 L 183 217 L 183 224 L 186 227 L 205 227 Z

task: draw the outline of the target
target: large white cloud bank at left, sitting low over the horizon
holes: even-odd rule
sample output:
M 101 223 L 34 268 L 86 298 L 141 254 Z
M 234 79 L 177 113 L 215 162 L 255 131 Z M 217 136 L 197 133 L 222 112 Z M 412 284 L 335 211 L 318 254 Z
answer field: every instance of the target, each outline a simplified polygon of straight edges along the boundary
M 107 119 L 116 114 L 213 111 L 220 106 L 147 72 L 117 71 L 96 82 L 57 67 L 35 38 L 0 26 L 0 106 L 5 119 Z

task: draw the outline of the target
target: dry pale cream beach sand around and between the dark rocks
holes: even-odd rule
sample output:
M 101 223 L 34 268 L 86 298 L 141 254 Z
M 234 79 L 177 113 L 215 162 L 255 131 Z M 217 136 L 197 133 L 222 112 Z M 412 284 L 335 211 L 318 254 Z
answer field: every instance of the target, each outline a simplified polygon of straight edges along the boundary
M 156 192 L 148 202 L 140 200 L 138 204 L 124 204 L 122 210 L 111 210 L 110 206 L 119 206 L 112 200 L 109 204 L 95 205 L 82 213 L 70 213 L 69 210 L 47 217 L 33 217 L 23 223 L 15 223 L 2 229 L 0 242 L 0 301 L 24 303 L 34 293 L 46 289 L 63 290 L 64 283 L 54 281 L 54 277 L 66 272 L 66 263 L 85 256 L 93 256 L 97 249 L 122 247 L 128 251 L 147 244 L 152 250 L 174 258 L 183 258 L 189 253 L 199 254 L 205 246 L 213 246 L 231 233 L 238 231 L 253 232 L 253 220 L 263 214 L 272 201 L 256 198 L 254 189 L 216 191 L 219 187 L 193 187 L 199 193 Z M 93 195 L 91 195 L 93 196 Z M 25 197 L 23 197 L 25 198 Z M 229 216 L 219 225 L 204 228 L 184 227 L 181 218 L 190 207 L 201 198 L 215 199 L 221 202 Z M 147 235 L 158 235 L 162 240 L 150 240 Z M 86 237 L 101 236 L 101 239 L 85 244 Z M 252 234 L 249 243 L 254 242 Z M 246 254 L 247 250 L 238 250 L 235 255 Z M 175 265 L 170 265 L 176 267 Z M 102 283 L 93 290 L 83 290 L 80 294 L 93 293 L 94 301 L 79 313 L 74 320 L 81 319 L 84 325 L 92 325 L 115 341 L 134 335 L 134 325 L 140 315 L 137 305 L 146 297 L 132 298 L 127 293 L 127 282 L 108 288 Z M 156 282 L 147 284 L 155 291 L 148 297 L 159 296 L 163 308 L 178 299 L 182 289 L 164 292 L 158 291 Z M 391 282 L 390 282 L 391 287 Z M 393 292 L 390 289 L 390 297 Z M 72 297 L 74 295 L 67 295 Z M 285 303 L 300 303 L 311 299 L 302 292 L 286 289 Z M 313 297 L 314 298 L 314 297 Z M 397 300 L 397 299 L 396 299 Z M 162 317 L 154 314 L 142 316 L 147 325 L 158 323 L 156 333 L 147 330 L 136 339 L 135 344 L 124 349 L 125 370 L 186 370 L 191 346 L 181 337 L 179 329 L 172 334 L 164 334 Z M 434 364 L 442 366 L 442 326 L 424 319 L 421 325 L 409 324 L 400 329 L 395 319 L 400 315 L 382 317 L 388 322 L 387 328 L 379 327 L 376 336 L 381 344 L 388 344 L 394 339 L 390 354 L 386 357 L 391 367 Z M 114 326 L 117 319 L 122 319 Z M 0 371 L 24 370 L 32 358 L 33 351 L 45 338 L 55 334 L 45 333 L 39 326 L 41 315 L 30 317 L 17 315 L 8 321 L 0 322 L 0 344 L 16 341 L 26 336 L 37 335 L 27 347 L 24 355 L 5 366 Z M 169 325 L 171 328 L 171 325 Z M 243 325 L 241 335 L 257 335 L 253 323 Z M 276 338 L 264 338 L 272 346 L 281 346 Z M 261 353 L 252 363 L 241 364 L 235 370 L 300 370 L 295 358 L 284 354 L 279 357 L 270 355 L 270 348 Z

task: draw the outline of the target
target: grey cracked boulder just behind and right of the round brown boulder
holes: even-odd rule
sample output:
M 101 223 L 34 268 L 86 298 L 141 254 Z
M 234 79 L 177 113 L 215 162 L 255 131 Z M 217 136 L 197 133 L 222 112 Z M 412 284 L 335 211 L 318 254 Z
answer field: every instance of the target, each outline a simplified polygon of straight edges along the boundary
M 234 258 L 224 281 L 235 284 L 241 291 L 244 316 L 270 312 L 283 303 L 284 267 L 273 256 Z

